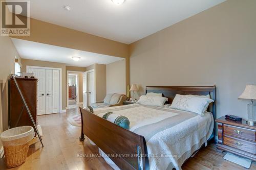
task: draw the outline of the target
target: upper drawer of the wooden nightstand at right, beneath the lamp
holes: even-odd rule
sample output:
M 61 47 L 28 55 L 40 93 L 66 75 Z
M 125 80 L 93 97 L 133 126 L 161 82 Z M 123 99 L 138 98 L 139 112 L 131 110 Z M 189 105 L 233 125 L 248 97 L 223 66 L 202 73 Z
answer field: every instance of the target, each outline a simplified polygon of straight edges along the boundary
M 254 130 L 239 128 L 231 125 L 223 125 L 224 135 L 234 136 L 246 140 L 256 141 Z

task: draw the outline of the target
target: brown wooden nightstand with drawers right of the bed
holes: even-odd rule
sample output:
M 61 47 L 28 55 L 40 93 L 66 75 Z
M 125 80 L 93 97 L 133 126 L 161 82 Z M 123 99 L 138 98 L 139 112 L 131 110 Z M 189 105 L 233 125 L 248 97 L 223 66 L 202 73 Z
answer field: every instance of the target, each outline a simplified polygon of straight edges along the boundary
M 235 122 L 224 116 L 218 118 L 216 122 L 219 152 L 227 151 L 256 161 L 256 126 L 247 125 L 244 119 Z

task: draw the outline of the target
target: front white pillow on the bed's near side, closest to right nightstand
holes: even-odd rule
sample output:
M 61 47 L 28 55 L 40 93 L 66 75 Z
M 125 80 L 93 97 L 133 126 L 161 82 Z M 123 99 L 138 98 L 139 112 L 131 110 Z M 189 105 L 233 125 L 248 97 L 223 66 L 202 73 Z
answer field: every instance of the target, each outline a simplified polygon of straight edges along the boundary
M 204 115 L 204 112 L 211 102 L 214 102 L 214 100 L 203 96 L 176 94 L 170 108 Z

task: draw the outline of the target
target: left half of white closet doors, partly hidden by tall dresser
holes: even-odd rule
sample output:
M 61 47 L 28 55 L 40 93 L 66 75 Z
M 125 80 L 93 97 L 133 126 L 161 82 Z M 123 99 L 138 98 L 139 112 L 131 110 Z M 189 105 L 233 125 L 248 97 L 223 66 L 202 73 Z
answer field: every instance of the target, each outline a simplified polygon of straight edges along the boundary
M 38 79 L 37 82 L 37 115 L 46 114 L 46 96 L 45 96 L 45 69 L 29 68 Z

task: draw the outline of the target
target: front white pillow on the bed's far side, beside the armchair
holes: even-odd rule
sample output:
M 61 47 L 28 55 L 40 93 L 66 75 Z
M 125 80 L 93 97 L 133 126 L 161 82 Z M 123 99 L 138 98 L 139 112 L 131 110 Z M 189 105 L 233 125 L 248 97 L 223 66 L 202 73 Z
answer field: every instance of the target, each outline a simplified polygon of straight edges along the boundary
M 145 106 L 159 106 L 164 107 L 164 103 L 167 101 L 167 98 L 162 96 L 146 96 L 141 95 L 140 99 L 138 100 L 138 104 L 145 105 Z

